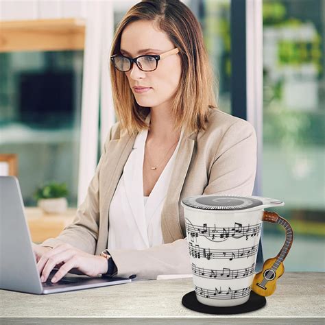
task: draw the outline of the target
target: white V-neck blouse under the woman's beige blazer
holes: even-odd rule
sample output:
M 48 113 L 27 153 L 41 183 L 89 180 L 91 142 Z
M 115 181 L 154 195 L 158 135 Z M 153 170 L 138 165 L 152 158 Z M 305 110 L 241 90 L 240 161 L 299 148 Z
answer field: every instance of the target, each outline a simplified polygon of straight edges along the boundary
M 148 197 L 143 196 L 143 157 L 148 130 L 139 132 L 125 163 L 109 210 L 108 250 L 144 250 L 164 243 L 161 210 L 169 187 L 178 145 Z

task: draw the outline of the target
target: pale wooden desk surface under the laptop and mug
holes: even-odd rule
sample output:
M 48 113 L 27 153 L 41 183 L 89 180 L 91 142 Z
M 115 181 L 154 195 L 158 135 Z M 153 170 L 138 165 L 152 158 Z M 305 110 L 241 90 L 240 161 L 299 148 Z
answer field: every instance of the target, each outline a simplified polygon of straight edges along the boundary
M 145 280 L 37 296 L 0 290 L 0 323 L 51 324 L 324 324 L 321 272 L 288 272 L 263 309 L 238 315 L 209 315 L 182 306 L 194 289 L 191 278 Z

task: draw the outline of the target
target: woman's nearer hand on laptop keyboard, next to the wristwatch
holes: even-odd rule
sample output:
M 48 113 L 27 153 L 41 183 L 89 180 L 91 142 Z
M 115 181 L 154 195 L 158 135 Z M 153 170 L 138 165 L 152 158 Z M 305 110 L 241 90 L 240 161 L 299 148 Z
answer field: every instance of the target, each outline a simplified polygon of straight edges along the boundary
M 42 282 L 47 280 L 56 265 L 60 265 L 60 269 L 54 274 L 51 282 L 58 282 L 73 268 L 73 273 L 87 276 L 105 274 L 108 268 L 107 260 L 103 256 L 88 254 L 67 243 L 56 245 L 40 257 L 37 269 Z

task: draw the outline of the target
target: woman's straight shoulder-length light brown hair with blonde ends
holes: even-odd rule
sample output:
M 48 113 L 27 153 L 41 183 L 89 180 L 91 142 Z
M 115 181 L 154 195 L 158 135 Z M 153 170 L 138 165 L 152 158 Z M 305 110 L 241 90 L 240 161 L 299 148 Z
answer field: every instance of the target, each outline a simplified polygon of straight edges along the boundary
M 143 0 L 123 17 L 112 41 L 110 56 L 120 53 L 121 34 L 134 21 L 154 21 L 180 51 L 182 73 L 173 97 L 174 128 L 185 132 L 206 130 L 208 109 L 217 109 L 213 69 L 208 60 L 200 23 L 193 12 L 178 0 Z M 139 106 L 125 73 L 110 62 L 112 97 L 121 128 L 132 135 L 148 128 L 145 123 L 150 108 Z

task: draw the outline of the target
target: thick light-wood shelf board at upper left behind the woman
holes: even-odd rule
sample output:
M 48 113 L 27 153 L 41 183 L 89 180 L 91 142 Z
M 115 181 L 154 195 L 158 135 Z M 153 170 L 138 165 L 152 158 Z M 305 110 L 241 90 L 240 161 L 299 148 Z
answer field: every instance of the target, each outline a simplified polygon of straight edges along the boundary
M 1 21 L 0 52 L 84 49 L 84 19 Z

